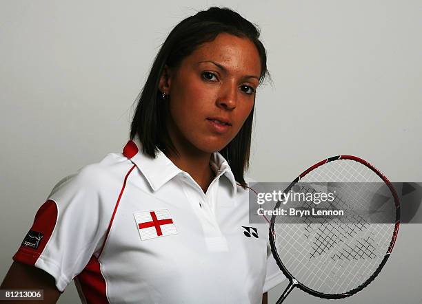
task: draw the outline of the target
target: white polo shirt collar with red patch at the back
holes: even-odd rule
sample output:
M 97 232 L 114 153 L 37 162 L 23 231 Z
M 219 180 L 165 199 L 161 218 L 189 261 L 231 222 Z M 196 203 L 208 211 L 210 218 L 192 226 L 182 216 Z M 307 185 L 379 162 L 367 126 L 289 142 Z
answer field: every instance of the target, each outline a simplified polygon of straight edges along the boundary
M 157 191 L 163 184 L 171 180 L 176 175 L 185 175 L 186 173 L 179 169 L 173 162 L 165 156 L 159 149 L 156 158 L 145 155 L 141 149 L 141 142 L 135 137 L 129 140 L 123 148 L 123 155 L 132 161 L 145 179 L 150 184 L 153 191 Z M 214 152 L 210 160 L 211 169 L 216 173 L 216 178 L 225 175 L 233 186 L 233 194 L 237 193 L 237 183 L 230 166 L 219 152 Z

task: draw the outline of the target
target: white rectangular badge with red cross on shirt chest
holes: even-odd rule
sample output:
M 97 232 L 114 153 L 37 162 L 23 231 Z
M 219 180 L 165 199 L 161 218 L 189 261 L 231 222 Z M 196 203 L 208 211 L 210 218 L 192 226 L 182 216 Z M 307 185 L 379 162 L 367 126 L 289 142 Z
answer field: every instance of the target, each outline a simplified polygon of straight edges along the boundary
M 141 240 L 177 234 L 168 209 L 143 211 L 134 214 Z

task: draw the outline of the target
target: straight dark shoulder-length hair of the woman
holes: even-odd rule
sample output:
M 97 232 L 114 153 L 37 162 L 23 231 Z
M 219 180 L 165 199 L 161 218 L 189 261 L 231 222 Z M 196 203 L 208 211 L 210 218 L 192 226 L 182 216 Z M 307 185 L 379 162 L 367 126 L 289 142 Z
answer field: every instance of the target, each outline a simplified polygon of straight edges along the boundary
M 165 125 L 167 102 L 163 102 L 159 90 L 159 80 L 164 66 L 178 67 L 183 58 L 192 54 L 201 44 L 213 41 L 221 33 L 250 39 L 257 47 L 261 59 L 260 82 L 268 74 L 267 56 L 265 47 L 259 41 L 259 30 L 237 12 L 228 8 L 209 8 L 184 19 L 173 28 L 165 39 L 152 64 L 145 86 L 139 94 L 139 102 L 131 124 L 130 138 L 133 139 L 135 135 L 138 135 L 143 153 L 152 158 L 155 158 L 158 152 L 157 148 L 165 154 L 169 151 L 177 153 Z M 239 133 L 219 151 L 228 161 L 234 178 L 243 187 L 246 186 L 243 173 L 249 166 L 253 115 L 254 107 Z

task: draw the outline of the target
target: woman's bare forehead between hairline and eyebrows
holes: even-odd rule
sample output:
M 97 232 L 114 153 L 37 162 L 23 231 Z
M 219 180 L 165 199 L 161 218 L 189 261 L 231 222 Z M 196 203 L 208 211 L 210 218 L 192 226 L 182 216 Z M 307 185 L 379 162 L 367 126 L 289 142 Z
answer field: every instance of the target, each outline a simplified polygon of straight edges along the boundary
M 257 47 L 247 38 L 221 33 L 210 42 L 203 43 L 190 56 L 188 63 L 215 61 L 222 63 L 232 72 L 245 72 L 259 76 L 261 59 Z

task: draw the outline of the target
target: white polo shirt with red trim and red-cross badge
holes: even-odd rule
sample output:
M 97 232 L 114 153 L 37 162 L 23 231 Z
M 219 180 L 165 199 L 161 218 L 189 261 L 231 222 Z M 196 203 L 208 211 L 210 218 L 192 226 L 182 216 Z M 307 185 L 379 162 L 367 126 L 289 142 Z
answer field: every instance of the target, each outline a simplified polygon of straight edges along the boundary
M 204 194 L 139 146 L 61 180 L 14 260 L 54 276 L 60 291 L 74 279 L 87 303 L 261 303 L 285 276 L 225 159 L 213 153 Z

